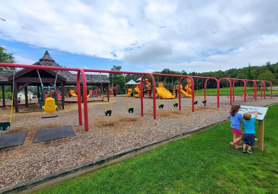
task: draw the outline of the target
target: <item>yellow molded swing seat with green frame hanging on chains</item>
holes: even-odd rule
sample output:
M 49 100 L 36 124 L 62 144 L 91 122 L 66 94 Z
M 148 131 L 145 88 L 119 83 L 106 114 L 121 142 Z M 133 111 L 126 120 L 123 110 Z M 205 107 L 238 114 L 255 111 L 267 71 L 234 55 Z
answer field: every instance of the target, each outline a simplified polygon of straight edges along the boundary
M 37 69 L 39 78 L 40 78 L 40 73 L 39 70 Z M 41 118 L 52 118 L 52 117 L 57 117 L 58 116 L 58 100 L 57 100 L 57 94 L 56 94 L 56 81 L 57 81 L 57 76 L 58 76 L 58 72 L 56 72 L 56 77 L 55 77 L 55 83 L 54 83 L 54 87 L 44 87 L 41 78 L 40 78 L 40 83 L 41 83 L 41 97 L 40 97 L 40 114 L 41 114 Z M 44 89 L 48 89 L 48 98 L 46 98 L 44 100 Z M 50 97 L 51 96 L 51 92 L 50 89 L 54 89 L 54 98 Z M 43 110 L 47 113 L 53 113 L 56 111 L 55 115 L 43 115 Z

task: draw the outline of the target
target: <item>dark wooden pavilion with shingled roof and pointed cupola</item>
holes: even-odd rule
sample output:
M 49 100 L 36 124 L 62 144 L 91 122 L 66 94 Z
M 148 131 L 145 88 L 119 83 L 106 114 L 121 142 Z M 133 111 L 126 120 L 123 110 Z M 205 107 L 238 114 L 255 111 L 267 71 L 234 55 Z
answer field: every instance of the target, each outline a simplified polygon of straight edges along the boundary
M 44 56 L 39 59 L 38 62 L 33 65 L 43 65 L 43 66 L 53 66 L 61 67 L 59 64 L 55 63 L 55 60 L 51 58 L 48 51 L 45 51 Z M 44 86 L 54 86 L 55 77 L 57 73 L 56 88 L 61 92 L 61 101 L 62 109 L 64 109 L 65 103 L 65 85 L 74 85 L 76 86 L 76 77 L 77 74 L 73 74 L 70 71 L 54 71 L 54 70 L 39 70 L 40 77 Z M 110 81 L 107 75 L 86 75 L 87 86 L 97 86 L 101 87 L 108 91 L 108 86 Z M 82 78 L 80 83 L 82 83 Z M 13 84 L 13 72 L 11 71 L 0 71 L 0 85 L 2 85 L 2 97 L 3 97 L 3 107 L 5 104 L 5 87 L 12 86 Z M 36 69 L 21 69 L 15 73 L 15 86 L 14 86 L 14 96 L 17 97 L 18 92 L 24 89 L 25 93 L 25 107 L 28 107 L 28 94 L 27 86 L 37 86 L 38 93 L 40 93 L 40 79 Z M 82 94 L 82 84 L 81 84 L 81 94 Z M 81 95 L 83 101 L 83 95 Z M 109 101 L 109 95 L 108 95 Z M 15 112 L 19 112 L 18 101 L 14 100 Z M 38 102 L 40 102 L 40 95 L 38 95 Z

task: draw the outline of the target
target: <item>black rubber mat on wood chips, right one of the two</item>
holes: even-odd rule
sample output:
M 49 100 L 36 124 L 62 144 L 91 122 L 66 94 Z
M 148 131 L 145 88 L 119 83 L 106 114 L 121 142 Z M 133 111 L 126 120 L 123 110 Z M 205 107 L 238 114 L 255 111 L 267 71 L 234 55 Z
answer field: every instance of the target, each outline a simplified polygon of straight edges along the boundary
M 39 129 L 36 132 L 36 135 L 33 139 L 33 143 L 50 141 L 54 139 L 61 139 L 65 137 L 73 137 L 75 136 L 75 132 L 72 126 L 62 126 L 62 127 L 53 127 L 53 128 L 45 128 Z

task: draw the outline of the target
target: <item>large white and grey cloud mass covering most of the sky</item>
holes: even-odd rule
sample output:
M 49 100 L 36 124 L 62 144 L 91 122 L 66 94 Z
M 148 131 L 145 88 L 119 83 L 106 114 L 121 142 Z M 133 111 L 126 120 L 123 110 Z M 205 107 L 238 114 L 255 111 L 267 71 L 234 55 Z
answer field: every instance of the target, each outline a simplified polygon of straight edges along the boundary
M 146 72 L 225 70 L 277 61 L 277 9 L 275 0 L 10 0 L 0 38 Z

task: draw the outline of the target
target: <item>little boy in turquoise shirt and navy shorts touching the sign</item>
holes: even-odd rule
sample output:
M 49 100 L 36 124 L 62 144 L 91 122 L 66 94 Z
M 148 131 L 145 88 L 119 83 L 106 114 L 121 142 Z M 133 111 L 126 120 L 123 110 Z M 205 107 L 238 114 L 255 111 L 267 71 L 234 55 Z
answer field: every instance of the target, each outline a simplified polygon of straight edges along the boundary
M 243 115 L 243 125 L 244 125 L 244 135 L 242 138 L 243 141 L 243 153 L 246 153 L 246 145 L 248 145 L 247 153 L 253 154 L 251 151 L 252 146 L 255 146 L 255 122 L 256 117 L 258 116 L 258 111 L 255 111 L 255 115 L 252 118 L 252 115 L 250 112 L 246 112 Z

